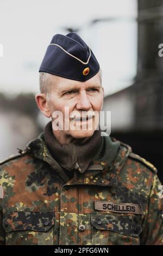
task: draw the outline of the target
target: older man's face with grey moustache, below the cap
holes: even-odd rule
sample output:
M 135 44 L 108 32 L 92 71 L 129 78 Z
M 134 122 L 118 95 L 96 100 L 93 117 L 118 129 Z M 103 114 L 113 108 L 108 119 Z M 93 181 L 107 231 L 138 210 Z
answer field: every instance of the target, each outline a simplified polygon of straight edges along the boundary
M 97 112 L 99 113 L 102 109 L 103 97 L 104 92 L 98 72 L 86 82 L 52 76 L 52 90 L 47 101 L 51 116 L 55 111 L 60 111 L 63 114 L 64 130 L 60 131 L 62 135 L 85 138 L 92 136 L 98 126 L 99 115 Z M 65 130 L 65 107 L 68 107 L 70 113 L 68 130 Z M 80 119 L 72 113 L 77 113 L 81 118 L 88 118 Z

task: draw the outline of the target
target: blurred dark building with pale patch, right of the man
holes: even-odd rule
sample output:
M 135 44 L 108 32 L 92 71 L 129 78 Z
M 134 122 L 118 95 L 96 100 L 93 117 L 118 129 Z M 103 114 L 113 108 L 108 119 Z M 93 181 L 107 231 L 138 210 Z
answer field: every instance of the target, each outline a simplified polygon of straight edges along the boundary
M 111 111 L 112 136 L 158 168 L 163 181 L 163 1 L 138 1 L 137 74 L 130 87 L 105 97 Z M 125 63 L 124 63 L 125 65 Z

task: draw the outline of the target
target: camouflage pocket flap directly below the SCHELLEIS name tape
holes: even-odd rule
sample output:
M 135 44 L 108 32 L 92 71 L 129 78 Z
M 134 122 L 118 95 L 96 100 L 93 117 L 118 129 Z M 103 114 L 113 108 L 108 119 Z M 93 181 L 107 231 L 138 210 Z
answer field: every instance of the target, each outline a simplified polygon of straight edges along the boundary
M 141 224 L 137 216 L 91 214 L 92 225 L 99 230 L 111 230 L 116 233 L 130 236 L 139 236 Z

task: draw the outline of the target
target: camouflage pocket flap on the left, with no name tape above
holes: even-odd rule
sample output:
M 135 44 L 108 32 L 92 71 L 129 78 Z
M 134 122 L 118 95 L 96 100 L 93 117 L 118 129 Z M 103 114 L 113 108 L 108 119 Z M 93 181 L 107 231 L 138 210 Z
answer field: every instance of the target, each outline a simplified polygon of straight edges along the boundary
M 5 231 L 48 231 L 54 224 L 54 212 L 7 212 L 3 218 Z

